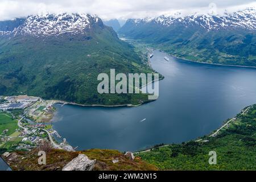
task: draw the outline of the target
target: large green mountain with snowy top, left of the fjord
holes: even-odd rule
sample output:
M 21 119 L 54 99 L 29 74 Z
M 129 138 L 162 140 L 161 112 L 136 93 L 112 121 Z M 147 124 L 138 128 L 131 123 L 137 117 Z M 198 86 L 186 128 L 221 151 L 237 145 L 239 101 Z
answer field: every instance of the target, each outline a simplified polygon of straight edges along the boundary
M 47 14 L 0 22 L 0 95 L 79 104 L 138 104 L 146 96 L 98 94 L 97 76 L 147 71 L 134 48 L 89 14 Z

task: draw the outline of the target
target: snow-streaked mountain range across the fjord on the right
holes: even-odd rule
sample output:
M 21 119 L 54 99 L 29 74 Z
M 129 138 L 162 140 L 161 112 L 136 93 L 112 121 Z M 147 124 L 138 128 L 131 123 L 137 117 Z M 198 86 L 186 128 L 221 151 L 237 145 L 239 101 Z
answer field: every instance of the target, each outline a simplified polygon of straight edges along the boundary
M 256 11 L 129 19 L 119 35 L 206 63 L 256 66 Z

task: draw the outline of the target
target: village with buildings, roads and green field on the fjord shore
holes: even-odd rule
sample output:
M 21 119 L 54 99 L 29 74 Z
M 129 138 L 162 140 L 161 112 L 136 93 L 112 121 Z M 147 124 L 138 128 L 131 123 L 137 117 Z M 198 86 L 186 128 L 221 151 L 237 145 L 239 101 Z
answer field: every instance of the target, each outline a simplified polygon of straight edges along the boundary
M 52 129 L 57 101 L 30 96 L 0 96 L 0 150 L 32 150 L 43 142 L 73 151 L 65 138 Z

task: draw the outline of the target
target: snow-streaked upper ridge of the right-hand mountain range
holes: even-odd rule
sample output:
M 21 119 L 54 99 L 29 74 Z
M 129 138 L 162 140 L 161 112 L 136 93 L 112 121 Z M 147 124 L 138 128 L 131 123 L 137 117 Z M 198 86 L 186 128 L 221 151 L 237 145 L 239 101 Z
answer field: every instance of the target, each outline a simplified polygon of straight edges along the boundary
M 184 26 L 200 26 L 208 30 L 220 28 L 247 28 L 249 30 L 256 29 L 256 10 L 249 8 L 237 11 L 233 14 L 225 15 L 209 15 L 194 14 L 185 17 L 175 17 L 161 15 L 157 18 L 130 19 L 135 25 L 139 23 L 155 23 L 164 27 L 175 24 L 183 24 Z

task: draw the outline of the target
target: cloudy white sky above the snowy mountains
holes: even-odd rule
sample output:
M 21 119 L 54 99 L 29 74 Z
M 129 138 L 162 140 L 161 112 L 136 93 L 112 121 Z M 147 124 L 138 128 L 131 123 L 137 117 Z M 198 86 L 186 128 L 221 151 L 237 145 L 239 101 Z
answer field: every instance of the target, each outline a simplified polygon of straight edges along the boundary
M 256 7 L 255 0 L 0 0 L 0 20 L 42 13 L 90 13 L 104 19 L 154 17 L 162 14 L 217 14 Z

